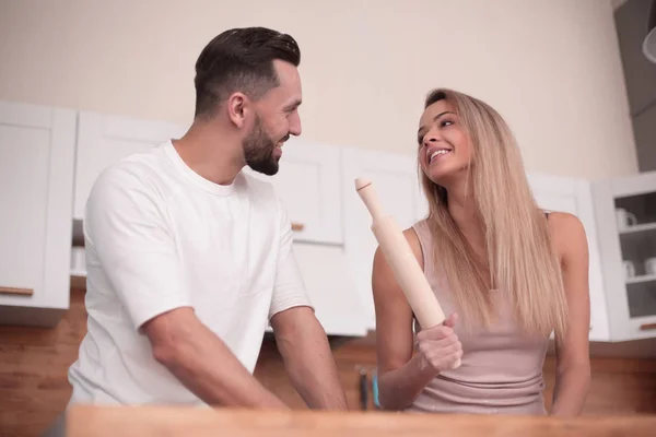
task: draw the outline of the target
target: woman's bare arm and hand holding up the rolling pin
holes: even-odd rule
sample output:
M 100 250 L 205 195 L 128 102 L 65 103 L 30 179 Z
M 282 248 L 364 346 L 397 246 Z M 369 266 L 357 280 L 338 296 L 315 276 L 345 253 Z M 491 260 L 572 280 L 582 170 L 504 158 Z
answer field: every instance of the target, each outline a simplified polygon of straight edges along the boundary
M 421 247 L 413 229 L 403 232 L 420 265 Z M 374 255 L 372 286 L 376 309 L 378 401 L 386 410 L 409 406 L 421 390 L 461 356 L 461 345 L 453 333 L 452 317 L 444 326 L 418 335 L 420 352 L 413 352 L 412 309 L 391 268 L 378 248 Z

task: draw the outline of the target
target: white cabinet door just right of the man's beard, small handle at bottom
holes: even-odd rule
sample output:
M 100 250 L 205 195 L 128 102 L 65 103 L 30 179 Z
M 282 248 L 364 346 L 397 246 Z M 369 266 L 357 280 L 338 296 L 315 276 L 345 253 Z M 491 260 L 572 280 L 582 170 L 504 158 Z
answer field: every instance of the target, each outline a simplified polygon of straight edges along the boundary
M 273 185 L 295 225 L 294 240 L 341 245 L 340 149 L 292 138 L 282 150 L 277 175 L 244 170 Z

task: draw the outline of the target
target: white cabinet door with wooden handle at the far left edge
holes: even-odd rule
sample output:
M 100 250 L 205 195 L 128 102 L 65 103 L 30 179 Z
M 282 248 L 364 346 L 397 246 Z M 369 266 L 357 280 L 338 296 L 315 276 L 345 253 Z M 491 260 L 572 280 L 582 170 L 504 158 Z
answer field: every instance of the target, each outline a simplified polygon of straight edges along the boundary
M 2 306 L 68 308 L 74 153 L 73 110 L 0 103 Z

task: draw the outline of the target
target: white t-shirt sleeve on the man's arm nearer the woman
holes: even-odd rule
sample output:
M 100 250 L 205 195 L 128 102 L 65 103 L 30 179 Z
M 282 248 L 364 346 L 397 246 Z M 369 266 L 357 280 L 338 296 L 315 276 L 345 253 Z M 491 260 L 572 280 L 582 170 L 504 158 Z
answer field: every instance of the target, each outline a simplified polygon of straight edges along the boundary
M 294 256 L 292 224 L 284 203 L 280 200 L 279 218 L 281 238 L 269 318 L 280 311 L 297 306 L 308 306 L 314 310 Z

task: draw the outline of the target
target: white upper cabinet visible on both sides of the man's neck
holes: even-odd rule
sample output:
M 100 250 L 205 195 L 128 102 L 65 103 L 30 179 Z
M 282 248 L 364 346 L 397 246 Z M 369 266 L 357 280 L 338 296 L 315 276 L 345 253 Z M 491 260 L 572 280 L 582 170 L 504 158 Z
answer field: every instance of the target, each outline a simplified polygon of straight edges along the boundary
M 104 168 L 185 131 L 183 126 L 159 120 L 80 113 L 74 217 L 83 217 L 91 187 Z M 295 224 L 296 240 L 341 244 L 339 149 L 292 138 L 283 147 L 280 166 L 274 176 L 249 168 L 246 173 L 273 185 Z

